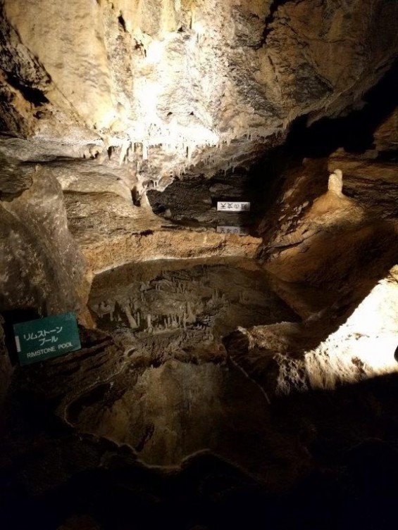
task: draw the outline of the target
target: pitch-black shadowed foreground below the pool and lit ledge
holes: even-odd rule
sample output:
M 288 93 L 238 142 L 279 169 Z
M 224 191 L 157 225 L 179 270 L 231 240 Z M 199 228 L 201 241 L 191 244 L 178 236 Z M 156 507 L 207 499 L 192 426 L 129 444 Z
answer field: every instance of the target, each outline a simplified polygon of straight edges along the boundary
M 27 436 L 35 443 L 2 453 L 1 528 L 56 530 L 79 515 L 102 530 L 390 528 L 398 493 L 397 388 L 398 374 L 390 374 L 273 400 L 270 436 L 297 439 L 299 458 L 309 462 L 276 490 L 266 477 L 255 479 L 211 453 L 161 470 L 145 467 L 125 446 L 69 428 L 49 434 L 40 422 Z M 273 466 L 283 467 L 280 455 L 270 459 Z

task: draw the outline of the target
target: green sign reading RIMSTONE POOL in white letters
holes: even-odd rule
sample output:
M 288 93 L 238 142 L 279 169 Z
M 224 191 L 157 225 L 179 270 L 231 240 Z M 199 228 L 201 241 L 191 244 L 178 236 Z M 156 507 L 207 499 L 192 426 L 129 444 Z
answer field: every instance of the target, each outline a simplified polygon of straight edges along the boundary
M 75 313 L 14 324 L 14 334 L 20 365 L 81 348 Z

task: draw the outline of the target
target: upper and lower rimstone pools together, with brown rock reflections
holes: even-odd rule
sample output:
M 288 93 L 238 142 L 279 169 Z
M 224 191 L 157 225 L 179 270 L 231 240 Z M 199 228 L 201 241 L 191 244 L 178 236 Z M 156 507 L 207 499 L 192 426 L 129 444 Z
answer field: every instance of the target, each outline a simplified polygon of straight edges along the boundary
M 96 403 L 92 386 L 73 401 L 70 423 L 128 444 L 149 465 L 180 465 L 211 450 L 265 472 L 268 404 L 228 361 L 221 340 L 238 326 L 297 318 L 257 263 L 212 258 L 120 267 L 94 279 L 89 308 L 122 360 L 115 376 L 104 370 L 110 386 L 101 386 Z M 103 362 L 116 360 L 104 354 Z M 98 385 L 98 371 L 95 377 Z

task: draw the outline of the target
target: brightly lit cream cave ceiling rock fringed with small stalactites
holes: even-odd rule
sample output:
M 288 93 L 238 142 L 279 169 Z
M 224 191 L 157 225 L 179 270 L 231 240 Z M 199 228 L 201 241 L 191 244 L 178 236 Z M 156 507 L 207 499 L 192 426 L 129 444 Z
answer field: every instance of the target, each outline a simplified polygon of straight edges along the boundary
M 337 115 L 398 45 L 382 0 L 2 4 L 4 127 L 60 153 L 110 150 L 139 184 L 251 160 L 297 116 Z

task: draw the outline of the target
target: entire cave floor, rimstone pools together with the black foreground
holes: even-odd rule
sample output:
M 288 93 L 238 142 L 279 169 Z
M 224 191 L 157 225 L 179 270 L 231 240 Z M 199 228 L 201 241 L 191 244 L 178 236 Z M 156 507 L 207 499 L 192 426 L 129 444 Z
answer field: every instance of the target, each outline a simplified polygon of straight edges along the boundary
M 269 399 L 223 338 L 299 320 L 271 284 L 237 258 L 97 275 L 97 329 L 80 330 L 82 350 L 14 374 L 1 419 L 2 527 L 389 527 L 397 374 Z

